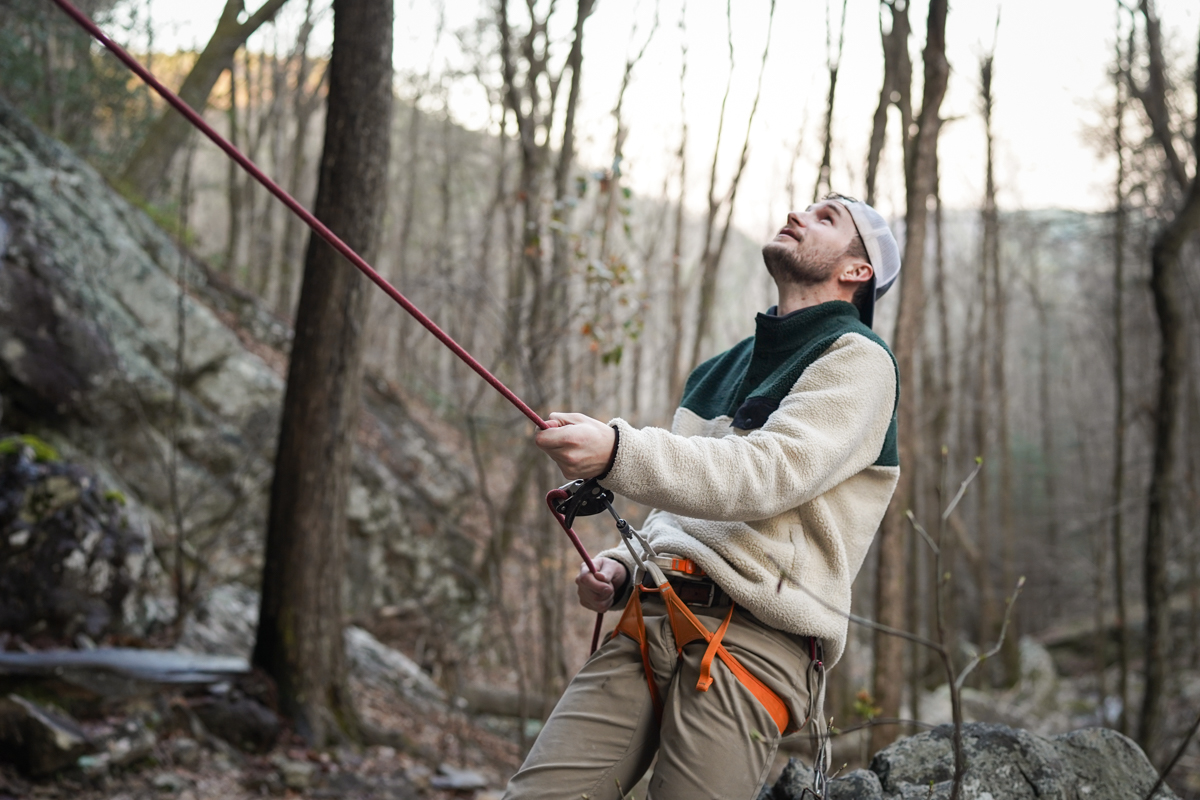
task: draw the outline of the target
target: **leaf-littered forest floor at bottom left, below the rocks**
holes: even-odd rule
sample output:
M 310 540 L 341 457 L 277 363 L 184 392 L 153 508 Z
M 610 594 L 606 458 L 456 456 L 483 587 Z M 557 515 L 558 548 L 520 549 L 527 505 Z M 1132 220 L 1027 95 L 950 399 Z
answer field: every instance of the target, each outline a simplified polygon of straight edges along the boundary
M 418 709 L 395 692 L 358 681 L 352 690 L 365 720 L 410 742 L 404 752 L 385 746 L 318 752 L 284 733 L 271 751 L 246 754 L 197 742 L 186 732 L 158 730 L 150 752 L 120 769 L 86 775 L 71 768 L 31 780 L 12 766 L 0 766 L 0 800 L 498 800 L 520 765 L 515 742 L 463 714 Z M 89 733 L 103 734 L 131 720 L 114 715 L 84 726 Z

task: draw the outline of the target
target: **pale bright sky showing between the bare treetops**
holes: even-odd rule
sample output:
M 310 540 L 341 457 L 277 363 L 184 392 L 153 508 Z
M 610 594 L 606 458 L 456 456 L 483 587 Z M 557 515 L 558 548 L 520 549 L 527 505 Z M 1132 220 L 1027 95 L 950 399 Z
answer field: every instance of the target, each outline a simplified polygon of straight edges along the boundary
M 151 0 L 155 48 L 203 46 L 223 0 Z M 256 0 L 247 0 L 254 7 Z M 515 10 L 524 4 L 510 4 Z M 544 4 L 539 4 L 544 5 Z M 557 65 L 570 44 L 574 5 L 559 0 L 551 36 Z M 684 6 L 686 8 L 684 10 Z M 328 0 L 314 52 L 328 52 L 331 36 Z M 476 20 L 491 13 L 488 0 L 396 0 L 395 65 L 401 95 L 412 96 L 413 78 L 461 70 L 474 59 Z M 878 101 L 883 62 L 877 0 L 846 0 L 845 44 L 834 109 L 833 184 L 862 196 L 871 118 Z M 718 168 L 724 193 L 737 166 L 754 100 L 767 36 L 769 0 L 737 0 L 732 12 L 733 77 Z M 1159 0 L 1169 54 L 1187 71 L 1195 64 L 1200 4 Z M 928 0 L 912 0 L 910 20 L 914 59 L 914 104 L 920 98 L 920 48 Z M 252 40 L 287 41 L 302 12 L 300 0 L 284 7 L 276 29 Z M 821 158 L 827 72 L 827 19 L 836 41 L 841 4 L 778 0 L 762 97 L 750 137 L 750 161 L 738 192 L 736 223 L 764 235 L 782 222 L 792 155 L 796 205 L 812 199 Z M 516 11 L 514 11 L 514 14 Z M 658 14 L 658 28 L 653 20 Z M 996 19 L 1000 14 L 997 28 Z M 685 34 L 680 31 L 680 19 Z M 517 20 L 515 20 L 516 23 Z M 437 31 L 440 28 L 440 35 Z M 653 29 L 653 36 L 650 36 Z M 1109 70 L 1116 31 L 1116 4 L 1103 0 L 958 0 L 947 22 L 950 82 L 942 104 L 948 122 L 941 139 L 942 194 L 952 207 L 977 207 L 983 197 L 984 132 L 979 115 L 979 60 L 995 46 L 994 133 L 997 200 L 1002 209 L 1062 207 L 1103 210 L 1110 204 L 1114 162 L 1097 146 L 1097 131 L 1111 108 Z M 716 139 L 720 102 L 730 76 L 725 4 L 718 0 L 598 0 L 584 29 L 583 85 L 577 131 L 580 158 L 602 168 L 612 162 L 612 109 L 625 60 L 646 46 L 632 73 L 624 119 L 624 180 L 634 191 L 659 196 L 676 168 L 680 119 L 689 127 L 689 204 L 703 207 Z M 685 104 L 680 109 L 680 43 L 688 43 Z M 646 44 L 648 42 L 648 44 Z M 445 101 L 450 113 L 472 128 L 494 126 L 485 89 L 470 78 L 454 82 Z M 565 95 L 565 92 L 564 92 Z M 878 179 L 880 210 L 904 210 L 895 119 Z M 672 192 L 677 191 L 673 188 Z

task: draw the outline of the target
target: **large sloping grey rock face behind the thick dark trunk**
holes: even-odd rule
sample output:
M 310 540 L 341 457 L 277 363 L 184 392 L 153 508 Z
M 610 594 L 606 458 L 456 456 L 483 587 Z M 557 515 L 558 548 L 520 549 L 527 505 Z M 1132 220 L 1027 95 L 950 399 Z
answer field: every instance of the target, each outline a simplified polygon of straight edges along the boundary
M 289 341 L 0 101 L 0 434 L 36 434 L 121 492 L 155 552 L 181 529 L 202 594 L 257 584 Z M 364 404 L 346 610 L 412 607 L 478 636 L 469 459 L 385 386 L 368 380 Z

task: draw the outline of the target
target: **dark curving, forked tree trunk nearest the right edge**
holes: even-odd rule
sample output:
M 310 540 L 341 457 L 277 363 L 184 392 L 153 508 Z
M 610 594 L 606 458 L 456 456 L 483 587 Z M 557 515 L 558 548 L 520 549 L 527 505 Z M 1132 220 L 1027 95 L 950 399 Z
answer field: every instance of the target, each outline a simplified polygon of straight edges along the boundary
M 1153 467 L 1150 476 L 1150 503 L 1146 511 L 1146 549 L 1142 579 L 1146 593 L 1146 690 L 1138 722 L 1138 741 L 1147 752 L 1158 744 L 1163 724 L 1163 690 L 1169 649 L 1169 609 L 1166 578 L 1166 535 L 1172 504 L 1178 499 L 1180 411 L 1183 408 L 1183 377 L 1187 367 L 1186 321 L 1183 319 L 1183 283 L 1180 252 L 1200 233 L 1200 179 L 1188 176 L 1184 158 L 1175 146 L 1168 110 L 1168 76 L 1163 55 L 1162 23 L 1152 0 L 1141 0 L 1146 23 L 1148 76 L 1145 86 L 1130 82 L 1150 118 L 1154 139 L 1163 149 L 1168 174 L 1183 197 L 1178 210 L 1154 236 L 1151 247 L 1150 290 L 1162 341 L 1158 356 L 1158 399 L 1154 413 Z M 1200 58 L 1194 76 L 1200 101 Z M 1193 122 L 1192 148 L 1200 158 L 1200 113 Z M 1170 197 L 1170 194 L 1168 194 Z M 1165 200 L 1164 203 L 1169 203 Z

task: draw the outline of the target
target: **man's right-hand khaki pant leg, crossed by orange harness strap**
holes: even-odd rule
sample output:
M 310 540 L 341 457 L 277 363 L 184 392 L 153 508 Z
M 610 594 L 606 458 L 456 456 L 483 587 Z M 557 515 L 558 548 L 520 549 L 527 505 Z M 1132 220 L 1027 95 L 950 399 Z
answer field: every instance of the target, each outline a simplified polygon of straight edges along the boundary
M 648 610 L 653 614 L 656 609 Z M 709 631 L 716 630 L 725 612 L 694 610 Z M 788 704 L 793 716 L 803 714 L 809 657 L 796 637 L 738 612 L 722 643 Z M 774 762 L 780 730 L 720 657 L 713 660 L 708 691 L 696 688 L 704 646 L 694 642 L 684 648 L 679 670 L 664 698 L 659 760 L 648 795 L 653 800 L 751 800 Z M 793 724 L 802 722 L 803 717 L 793 720 Z

